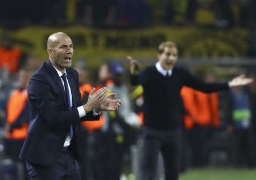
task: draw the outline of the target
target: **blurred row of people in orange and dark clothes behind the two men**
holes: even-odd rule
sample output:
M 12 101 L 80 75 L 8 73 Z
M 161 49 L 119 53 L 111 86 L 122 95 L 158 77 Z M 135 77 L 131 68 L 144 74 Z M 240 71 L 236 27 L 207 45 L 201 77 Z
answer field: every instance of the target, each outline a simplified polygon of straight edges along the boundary
M 10 37 L 3 38 L 0 45 L 2 175 L 9 173 L 10 177 L 23 174 L 23 178 L 20 176 L 19 179 L 27 178 L 23 162 L 18 160 L 30 120 L 27 84 L 32 73 L 42 63 L 41 59 L 24 54 L 13 46 Z M 83 122 L 79 127 L 83 137 L 81 139 L 84 140 L 82 179 L 113 180 L 122 176 L 125 178 L 123 174 L 138 175 L 143 127 L 143 88 L 131 87 L 127 83 L 128 74 L 120 62 L 104 62 L 94 71 L 86 66 L 84 59 L 78 59 L 73 66 L 79 72 L 82 101 L 87 101 L 93 87 L 99 89 L 106 86 L 109 93 L 117 93 L 117 98 L 122 98 L 123 102 L 117 112 L 102 113 L 100 121 Z M 208 82 L 216 80 L 213 73 L 195 73 Z M 248 75 L 255 80 L 254 73 L 250 72 Z M 246 88 L 238 87 L 209 95 L 183 87 L 181 97 L 180 104 L 177 104 L 182 110 L 180 121 L 184 125 L 181 172 L 209 165 L 256 167 L 255 82 Z M 19 169 L 22 169 L 22 173 L 18 173 Z

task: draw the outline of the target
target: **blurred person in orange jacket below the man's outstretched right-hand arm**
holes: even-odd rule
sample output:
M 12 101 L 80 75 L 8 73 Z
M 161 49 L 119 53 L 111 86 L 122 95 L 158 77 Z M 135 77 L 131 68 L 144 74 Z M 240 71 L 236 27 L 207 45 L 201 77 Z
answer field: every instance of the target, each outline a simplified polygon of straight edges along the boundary
M 199 76 L 202 76 L 199 75 Z M 213 74 L 207 74 L 205 82 L 214 82 Z M 212 130 L 220 126 L 218 116 L 218 95 L 203 93 L 189 87 L 181 89 L 181 97 L 185 108 L 184 123 L 187 128 L 188 142 L 192 148 L 192 165 L 205 166 L 208 163 L 208 152 L 205 152 Z

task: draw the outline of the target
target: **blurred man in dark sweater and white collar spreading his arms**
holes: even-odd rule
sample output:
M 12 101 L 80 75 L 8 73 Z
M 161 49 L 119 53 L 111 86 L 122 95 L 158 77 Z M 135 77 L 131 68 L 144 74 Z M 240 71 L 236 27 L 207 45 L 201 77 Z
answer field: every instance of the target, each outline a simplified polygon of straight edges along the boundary
M 174 66 L 177 47 L 173 42 L 162 42 L 158 47 L 158 62 L 139 72 L 139 63 L 131 57 L 130 79 L 141 84 L 144 96 L 144 128 L 141 180 L 153 180 L 158 153 L 164 162 L 166 180 L 179 179 L 181 152 L 180 89 L 183 85 L 203 92 L 215 92 L 246 85 L 252 79 L 238 76 L 229 82 L 205 83 L 187 70 Z

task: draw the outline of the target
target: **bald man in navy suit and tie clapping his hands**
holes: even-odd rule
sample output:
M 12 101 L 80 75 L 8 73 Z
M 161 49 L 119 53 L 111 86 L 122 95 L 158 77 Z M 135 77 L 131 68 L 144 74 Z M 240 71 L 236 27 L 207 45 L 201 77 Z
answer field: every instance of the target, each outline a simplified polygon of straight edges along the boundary
M 73 44 L 63 32 L 49 36 L 49 60 L 28 84 L 30 125 L 20 158 L 26 161 L 30 179 L 81 179 L 79 160 L 81 121 L 99 119 L 102 110 L 117 110 L 121 100 L 106 95 L 107 88 L 90 92 L 81 104 L 79 75 L 71 68 Z

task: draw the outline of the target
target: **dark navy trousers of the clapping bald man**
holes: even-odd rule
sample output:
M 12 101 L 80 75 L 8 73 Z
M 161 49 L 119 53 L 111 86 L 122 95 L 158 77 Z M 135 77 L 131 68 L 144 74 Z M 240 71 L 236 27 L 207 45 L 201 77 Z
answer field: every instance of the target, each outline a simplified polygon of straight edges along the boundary
M 30 162 L 26 162 L 26 165 L 30 180 L 81 180 L 79 168 L 68 147 L 63 148 L 61 155 L 52 166 Z

